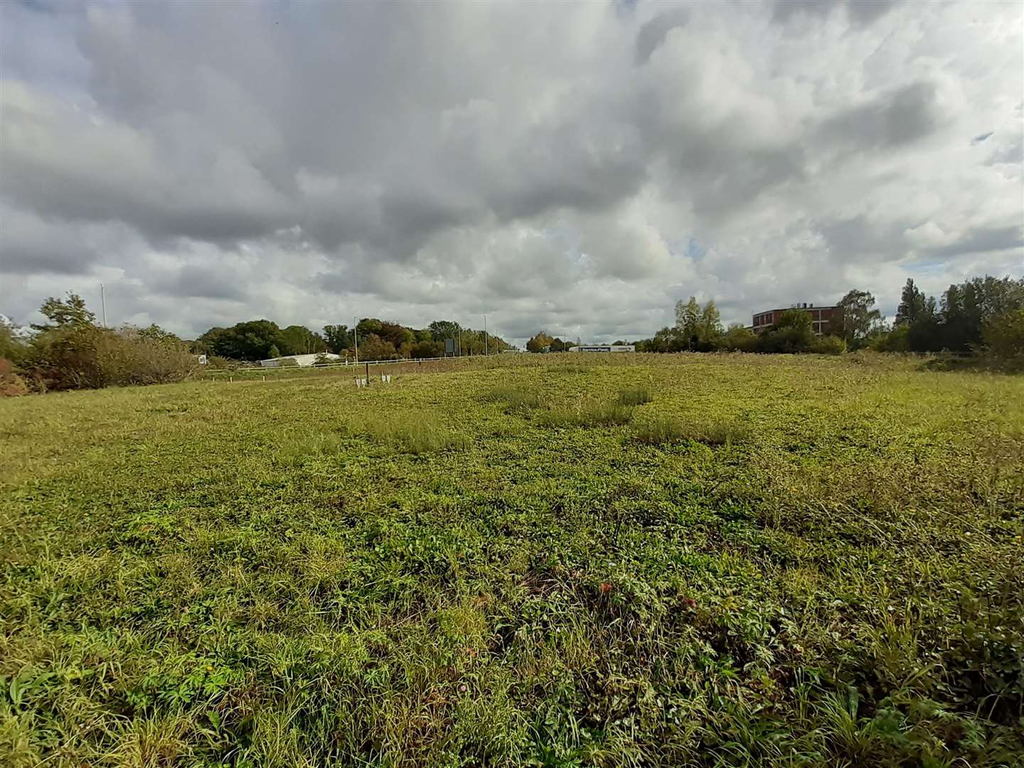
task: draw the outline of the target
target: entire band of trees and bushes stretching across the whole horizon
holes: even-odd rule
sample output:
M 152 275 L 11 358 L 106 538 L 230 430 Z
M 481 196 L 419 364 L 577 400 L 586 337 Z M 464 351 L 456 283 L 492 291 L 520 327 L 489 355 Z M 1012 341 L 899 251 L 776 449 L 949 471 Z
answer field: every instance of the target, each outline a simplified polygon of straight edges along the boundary
M 810 312 L 800 308 L 781 312 L 773 326 L 755 334 L 741 324 L 723 328 L 715 302 L 701 305 L 691 296 L 677 302 L 674 326 L 635 344 L 638 351 L 647 352 L 948 351 L 989 358 L 1004 368 L 1024 368 L 1024 279 L 974 278 L 949 286 L 938 298 L 926 296 L 908 280 L 892 325 L 874 304 L 867 291 L 848 292 L 833 314 L 827 336 L 815 335 Z M 447 339 L 466 355 L 510 348 L 497 336 L 453 321 L 414 329 L 365 317 L 354 329 L 328 325 L 318 333 L 305 326 L 282 329 L 271 321 L 256 319 L 211 328 L 186 342 L 155 325 L 100 328 L 75 294 L 48 298 L 40 312 L 46 323 L 34 326 L 28 335 L 0 322 L 0 395 L 180 381 L 195 371 L 198 353 L 237 361 L 323 352 L 347 356 L 354 353 L 357 342 L 361 359 L 439 357 Z M 526 348 L 559 352 L 579 343 L 542 331 Z

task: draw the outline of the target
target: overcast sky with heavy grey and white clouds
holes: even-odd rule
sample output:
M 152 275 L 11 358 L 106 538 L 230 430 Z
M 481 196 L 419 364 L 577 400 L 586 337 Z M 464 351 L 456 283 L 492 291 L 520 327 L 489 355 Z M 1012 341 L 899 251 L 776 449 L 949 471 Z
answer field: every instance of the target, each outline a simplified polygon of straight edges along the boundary
M 1024 273 L 1019 2 L 0 2 L 0 312 L 638 338 Z

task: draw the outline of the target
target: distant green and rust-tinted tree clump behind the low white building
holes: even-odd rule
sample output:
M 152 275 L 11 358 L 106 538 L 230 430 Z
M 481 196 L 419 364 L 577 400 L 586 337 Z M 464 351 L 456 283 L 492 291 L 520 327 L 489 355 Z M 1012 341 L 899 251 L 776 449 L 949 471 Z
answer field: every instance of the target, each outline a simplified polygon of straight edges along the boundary
M 504 339 L 463 328 L 454 321 L 434 321 L 423 329 L 409 328 L 391 321 L 364 317 L 354 329 L 347 325 L 328 325 L 323 333 L 305 326 L 285 329 L 268 319 L 247 321 L 230 328 L 211 328 L 193 342 L 196 352 L 233 360 L 255 361 L 316 352 L 354 354 L 358 343 L 360 359 L 391 360 L 441 357 L 444 340 L 455 342 L 457 352 L 497 354 L 510 346 Z

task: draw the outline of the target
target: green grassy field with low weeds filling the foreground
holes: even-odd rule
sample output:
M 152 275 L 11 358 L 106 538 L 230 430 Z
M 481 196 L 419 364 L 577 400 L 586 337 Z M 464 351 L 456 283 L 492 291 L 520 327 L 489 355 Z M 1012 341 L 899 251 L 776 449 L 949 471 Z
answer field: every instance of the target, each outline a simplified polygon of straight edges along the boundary
M 1024 379 L 614 357 L 0 401 L 0 763 L 1019 763 Z

